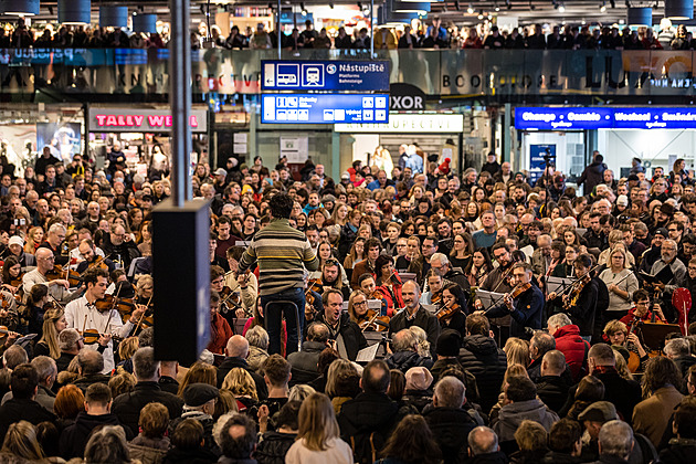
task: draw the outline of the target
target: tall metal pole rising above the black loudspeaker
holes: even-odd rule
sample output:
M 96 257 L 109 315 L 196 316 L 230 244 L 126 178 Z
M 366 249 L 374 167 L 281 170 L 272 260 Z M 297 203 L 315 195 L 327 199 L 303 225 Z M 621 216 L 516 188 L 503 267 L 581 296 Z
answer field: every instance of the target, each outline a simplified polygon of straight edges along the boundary
M 188 179 L 191 164 L 191 40 L 189 0 L 169 0 L 171 40 L 169 41 L 169 104 L 171 105 L 171 199 L 175 207 L 183 207 L 191 199 Z

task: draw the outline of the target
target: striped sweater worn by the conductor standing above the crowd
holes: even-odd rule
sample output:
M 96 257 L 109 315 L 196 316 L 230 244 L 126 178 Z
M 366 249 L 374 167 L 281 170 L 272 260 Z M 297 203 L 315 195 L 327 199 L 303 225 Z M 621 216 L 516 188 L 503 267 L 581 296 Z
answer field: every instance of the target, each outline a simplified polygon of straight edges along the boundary
M 240 260 L 243 273 L 259 262 L 259 294 L 266 296 L 305 286 L 304 268 L 316 271 L 319 259 L 305 234 L 289 226 L 287 219 L 272 220 L 256 232 Z

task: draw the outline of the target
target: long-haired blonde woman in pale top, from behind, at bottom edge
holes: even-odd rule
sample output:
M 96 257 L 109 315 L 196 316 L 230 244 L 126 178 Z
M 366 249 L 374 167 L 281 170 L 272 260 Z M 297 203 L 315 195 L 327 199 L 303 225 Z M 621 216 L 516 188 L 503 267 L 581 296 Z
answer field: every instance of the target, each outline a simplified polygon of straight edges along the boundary
M 299 408 L 299 431 L 285 455 L 286 464 L 352 464 L 352 451 L 340 439 L 334 407 L 324 393 L 309 396 Z

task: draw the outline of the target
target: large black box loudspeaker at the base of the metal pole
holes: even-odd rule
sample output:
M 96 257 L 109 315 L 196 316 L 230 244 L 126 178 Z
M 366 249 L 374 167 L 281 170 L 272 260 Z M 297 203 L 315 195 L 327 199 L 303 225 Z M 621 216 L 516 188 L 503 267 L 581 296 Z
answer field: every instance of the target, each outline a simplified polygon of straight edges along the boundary
M 210 208 L 165 200 L 152 210 L 155 358 L 189 366 L 210 339 Z

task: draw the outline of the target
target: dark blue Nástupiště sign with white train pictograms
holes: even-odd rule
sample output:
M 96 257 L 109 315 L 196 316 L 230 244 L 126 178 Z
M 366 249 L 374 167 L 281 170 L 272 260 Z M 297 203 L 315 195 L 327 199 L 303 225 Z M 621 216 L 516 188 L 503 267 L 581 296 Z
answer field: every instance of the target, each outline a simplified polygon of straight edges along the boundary
M 261 88 L 389 92 L 389 62 L 263 61 Z

